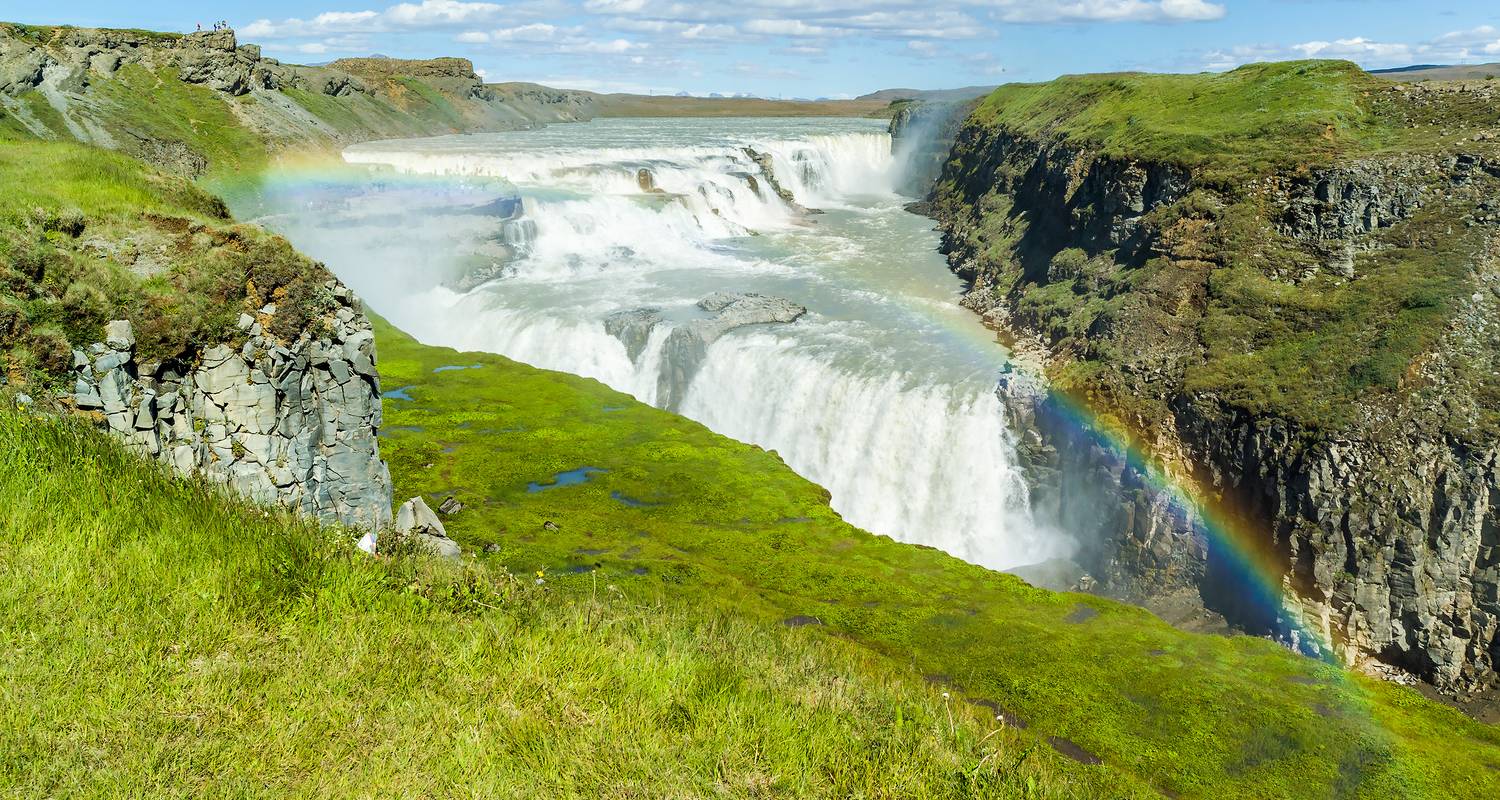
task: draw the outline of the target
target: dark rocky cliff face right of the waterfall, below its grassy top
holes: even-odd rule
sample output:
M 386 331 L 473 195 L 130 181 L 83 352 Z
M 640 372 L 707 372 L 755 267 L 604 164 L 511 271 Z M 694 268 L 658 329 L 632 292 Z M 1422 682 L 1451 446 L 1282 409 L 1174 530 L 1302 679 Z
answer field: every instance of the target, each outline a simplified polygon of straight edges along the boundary
M 1384 92 L 1366 125 L 1432 113 Z M 1458 692 L 1496 681 L 1491 117 L 1422 152 L 1239 162 L 1233 182 L 1224 164 L 1136 158 L 1060 126 L 964 123 L 933 213 L 966 305 L 1056 389 L 1014 375 L 1000 396 L 1036 507 L 1083 539 L 1107 591 L 1186 587 L 1251 630 L 1318 632 L 1352 663 Z M 1245 600 L 1221 530 L 1270 554 L 1284 608 Z

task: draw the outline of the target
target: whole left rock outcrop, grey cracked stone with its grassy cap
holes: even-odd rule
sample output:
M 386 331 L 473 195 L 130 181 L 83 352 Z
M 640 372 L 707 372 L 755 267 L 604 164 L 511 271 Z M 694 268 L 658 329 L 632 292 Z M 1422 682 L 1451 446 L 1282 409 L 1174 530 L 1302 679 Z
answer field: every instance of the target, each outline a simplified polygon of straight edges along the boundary
M 0 384 L 255 500 L 390 521 L 374 332 L 321 264 L 94 147 L 6 144 L 0 185 Z

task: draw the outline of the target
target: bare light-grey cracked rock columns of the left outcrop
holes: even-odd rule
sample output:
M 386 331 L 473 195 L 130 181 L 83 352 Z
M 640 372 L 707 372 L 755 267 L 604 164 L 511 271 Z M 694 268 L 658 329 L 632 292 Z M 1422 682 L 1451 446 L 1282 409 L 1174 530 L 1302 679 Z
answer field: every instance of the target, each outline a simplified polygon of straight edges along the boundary
M 296 342 L 264 329 L 267 305 L 240 317 L 243 344 L 206 348 L 186 371 L 138 363 L 130 323 L 74 351 L 74 405 L 126 446 L 182 474 L 202 474 L 261 503 L 330 522 L 390 522 L 380 459 L 375 335 L 360 302 L 328 281 L 333 302 Z

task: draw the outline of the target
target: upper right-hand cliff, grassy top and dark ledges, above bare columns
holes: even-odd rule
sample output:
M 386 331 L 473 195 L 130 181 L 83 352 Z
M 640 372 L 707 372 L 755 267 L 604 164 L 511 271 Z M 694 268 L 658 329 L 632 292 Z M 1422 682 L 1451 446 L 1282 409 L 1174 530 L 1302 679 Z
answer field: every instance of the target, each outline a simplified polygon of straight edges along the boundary
M 1062 384 L 1142 428 L 1186 387 L 1341 429 L 1419 390 L 1420 357 L 1479 312 L 1494 129 L 1482 92 L 1342 62 L 1065 77 L 986 98 L 934 209 L 970 303 L 1040 333 Z M 1500 387 L 1484 356 L 1452 369 Z M 1464 404 L 1452 426 L 1497 422 Z

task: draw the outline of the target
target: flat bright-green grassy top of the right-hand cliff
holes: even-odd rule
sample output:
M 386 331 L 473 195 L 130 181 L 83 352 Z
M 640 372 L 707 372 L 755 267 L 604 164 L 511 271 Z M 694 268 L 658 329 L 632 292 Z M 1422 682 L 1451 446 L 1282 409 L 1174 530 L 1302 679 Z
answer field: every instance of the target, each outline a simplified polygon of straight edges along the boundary
M 1276 168 L 1414 153 L 1462 138 L 1413 129 L 1434 120 L 1416 108 L 1396 114 L 1389 95 L 1389 81 L 1350 62 L 1276 62 L 1224 74 L 1125 72 L 1008 84 L 990 93 L 970 119 L 1089 144 L 1110 156 L 1197 167 L 1200 179 L 1227 186 Z M 1466 105 L 1440 119 L 1462 128 L 1470 117 L 1485 116 L 1492 113 Z

